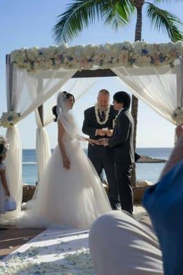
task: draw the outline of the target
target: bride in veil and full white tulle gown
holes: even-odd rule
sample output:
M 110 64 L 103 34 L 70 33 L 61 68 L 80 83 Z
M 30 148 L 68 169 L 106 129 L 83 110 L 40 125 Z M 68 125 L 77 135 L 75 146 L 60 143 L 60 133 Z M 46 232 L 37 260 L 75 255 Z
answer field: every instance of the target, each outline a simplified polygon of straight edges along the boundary
M 100 179 L 80 148 L 74 119 L 69 113 L 74 96 L 60 92 L 53 108 L 58 145 L 45 168 L 34 203 L 14 223 L 26 228 L 88 228 L 111 210 Z M 89 139 L 85 139 L 90 142 Z M 33 201 L 32 201 L 33 202 Z

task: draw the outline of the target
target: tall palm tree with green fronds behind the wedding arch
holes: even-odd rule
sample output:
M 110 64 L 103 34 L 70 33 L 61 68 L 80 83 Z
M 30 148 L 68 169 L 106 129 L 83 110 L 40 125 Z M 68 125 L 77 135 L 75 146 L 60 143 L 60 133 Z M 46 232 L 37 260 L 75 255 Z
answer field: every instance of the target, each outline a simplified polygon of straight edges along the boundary
M 56 43 L 71 41 L 85 27 L 101 19 L 106 25 L 111 25 L 118 30 L 121 26 L 129 24 L 131 18 L 136 15 L 135 41 L 142 39 L 142 8 L 147 5 L 147 17 L 155 30 L 163 30 L 171 41 L 183 39 L 182 22 L 175 14 L 158 8 L 157 3 L 170 2 L 171 0 L 153 0 L 153 3 L 144 0 L 73 0 L 63 14 L 58 15 L 58 21 L 54 26 L 54 38 Z M 180 0 L 181 1 L 181 0 Z M 173 1 L 177 2 L 176 0 Z M 133 146 L 136 150 L 136 131 L 138 119 L 138 98 L 132 96 L 131 114 L 135 122 Z M 136 173 L 133 170 L 133 184 L 136 184 Z

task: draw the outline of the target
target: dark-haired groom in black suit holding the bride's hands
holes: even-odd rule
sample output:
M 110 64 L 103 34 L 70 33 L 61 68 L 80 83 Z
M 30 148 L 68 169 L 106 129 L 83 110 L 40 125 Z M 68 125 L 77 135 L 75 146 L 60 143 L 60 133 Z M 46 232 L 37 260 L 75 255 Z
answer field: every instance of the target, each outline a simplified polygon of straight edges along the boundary
M 133 192 L 131 172 L 133 168 L 134 122 L 129 112 L 131 98 L 125 91 L 114 94 L 114 109 L 118 111 L 114 135 L 98 140 L 98 144 L 108 146 L 115 162 L 116 181 L 122 210 L 133 212 Z

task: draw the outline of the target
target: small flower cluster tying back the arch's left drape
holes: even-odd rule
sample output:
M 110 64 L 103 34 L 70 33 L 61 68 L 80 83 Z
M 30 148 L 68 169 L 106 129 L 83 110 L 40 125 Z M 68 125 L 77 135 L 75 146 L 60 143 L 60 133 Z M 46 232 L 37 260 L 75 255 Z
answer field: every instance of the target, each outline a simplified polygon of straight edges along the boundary
M 21 113 L 16 113 L 14 111 L 3 113 L 0 119 L 0 126 L 3 126 L 4 128 L 8 128 L 14 124 L 17 124 L 17 122 L 19 122 L 20 116 L 21 116 Z

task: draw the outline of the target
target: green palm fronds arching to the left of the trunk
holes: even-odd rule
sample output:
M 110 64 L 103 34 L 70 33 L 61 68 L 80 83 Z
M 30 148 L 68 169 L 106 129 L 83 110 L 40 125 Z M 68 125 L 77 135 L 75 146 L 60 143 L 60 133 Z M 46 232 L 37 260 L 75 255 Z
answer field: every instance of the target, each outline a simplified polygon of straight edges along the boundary
M 120 8 L 119 3 L 124 7 Z M 105 20 L 116 28 L 128 23 L 132 12 L 133 5 L 129 0 L 74 0 L 63 14 L 58 15 L 53 36 L 58 44 L 70 41 L 96 19 Z

